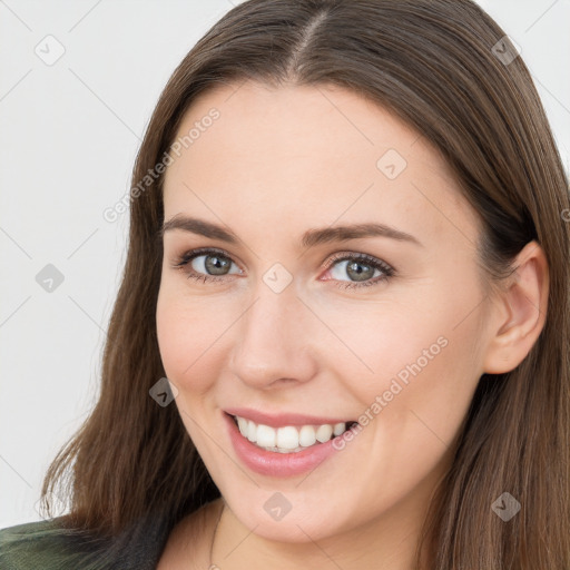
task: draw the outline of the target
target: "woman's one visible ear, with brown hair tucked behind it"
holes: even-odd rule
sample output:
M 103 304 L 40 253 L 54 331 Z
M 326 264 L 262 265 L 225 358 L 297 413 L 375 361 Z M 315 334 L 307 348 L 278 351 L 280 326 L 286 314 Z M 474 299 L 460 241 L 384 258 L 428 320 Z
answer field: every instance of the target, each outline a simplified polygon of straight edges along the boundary
M 483 370 L 501 374 L 515 368 L 529 354 L 547 317 L 549 269 L 544 252 L 529 242 L 514 262 L 517 271 L 498 294 Z

